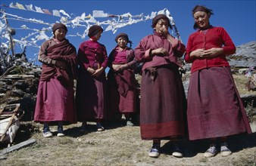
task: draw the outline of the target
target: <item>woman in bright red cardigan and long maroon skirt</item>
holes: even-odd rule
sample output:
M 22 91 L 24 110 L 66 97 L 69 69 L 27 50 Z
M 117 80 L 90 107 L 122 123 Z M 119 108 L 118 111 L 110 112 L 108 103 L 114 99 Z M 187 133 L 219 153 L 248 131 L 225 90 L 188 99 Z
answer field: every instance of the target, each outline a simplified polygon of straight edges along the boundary
M 196 5 L 192 10 L 196 32 L 189 36 L 185 60 L 192 63 L 188 92 L 189 140 L 210 139 L 204 157 L 231 155 L 226 137 L 251 133 L 226 56 L 236 46 L 223 27 L 211 26 L 212 10 Z

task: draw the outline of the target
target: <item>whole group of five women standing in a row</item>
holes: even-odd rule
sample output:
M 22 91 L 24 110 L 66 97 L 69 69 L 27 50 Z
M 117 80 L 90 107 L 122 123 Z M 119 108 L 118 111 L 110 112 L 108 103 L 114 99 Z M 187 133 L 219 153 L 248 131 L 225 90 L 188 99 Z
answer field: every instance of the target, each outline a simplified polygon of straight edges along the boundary
M 127 47 L 128 35 L 120 33 L 109 56 L 105 45 L 98 42 L 101 26 L 89 28 L 89 40 L 80 45 L 76 56 L 75 48 L 64 38 L 67 27 L 56 23 L 54 38 L 42 44 L 39 51 L 43 64 L 35 121 L 44 123 L 43 136 L 52 137 L 50 121 L 58 121 L 58 136 L 64 136 L 64 121 L 82 121 L 81 131 L 86 130 L 86 121 L 95 121 L 97 130 L 104 131 L 101 121 L 115 112 L 125 115 L 127 125 L 133 124 L 138 102 L 133 69 L 136 63 L 142 63 L 139 126 L 142 140 L 152 140 L 148 155 L 158 157 L 161 140 L 170 140 L 172 155 L 183 157 L 180 140 L 186 137 L 211 140 L 205 157 L 218 152 L 231 155 L 226 138 L 250 134 L 251 128 L 226 60 L 236 47 L 225 29 L 211 25 L 212 14 L 201 5 L 192 9 L 196 32 L 189 35 L 186 46 L 170 35 L 169 18 L 158 14 L 152 20 L 154 33 L 142 38 L 134 51 Z M 182 65 L 178 58 L 183 54 L 186 62 L 192 63 L 187 100 L 179 72 Z

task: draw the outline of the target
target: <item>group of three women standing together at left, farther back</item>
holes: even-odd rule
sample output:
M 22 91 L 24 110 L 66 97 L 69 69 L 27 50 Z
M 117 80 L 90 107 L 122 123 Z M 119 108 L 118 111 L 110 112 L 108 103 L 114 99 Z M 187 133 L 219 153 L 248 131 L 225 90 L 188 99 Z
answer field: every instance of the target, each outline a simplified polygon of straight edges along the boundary
M 89 40 L 80 44 L 76 56 L 76 48 L 65 38 L 67 27 L 55 23 L 52 31 L 54 38 L 45 41 L 39 51 L 42 75 L 34 121 L 43 122 L 43 137 L 52 137 L 49 124 L 53 121 L 58 123 L 60 137 L 64 136 L 66 121 L 82 121 L 81 133 L 86 131 L 87 121 L 95 121 L 97 131 L 104 131 L 102 121 L 110 120 L 116 113 L 123 113 L 126 124 L 133 126 L 137 109 L 133 72 L 136 60 L 133 49 L 127 46 L 128 35 L 117 35 L 117 46 L 108 56 L 105 45 L 98 42 L 103 29 L 98 25 L 90 26 Z M 107 67 L 110 68 L 108 82 Z M 77 80 L 76 100 L 73 79 Z

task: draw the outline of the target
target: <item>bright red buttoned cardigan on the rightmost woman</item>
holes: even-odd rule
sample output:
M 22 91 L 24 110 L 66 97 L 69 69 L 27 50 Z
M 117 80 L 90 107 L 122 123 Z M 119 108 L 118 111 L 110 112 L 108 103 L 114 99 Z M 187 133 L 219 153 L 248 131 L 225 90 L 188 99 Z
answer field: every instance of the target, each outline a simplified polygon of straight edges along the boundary
M 203 48 L 223 48 L 223 54 L 212 59 L 196 59 L 191 58 L 189 54 L 196 49 Z M 229 34 L 223 27 L 211 27 L 206 32 L 198 30 L 189 35 L 189 40 L 186 46 L 185 60 L 186 63 L 192 63 L 191 72 L 199 69 L 205 69 L 214 66 L 229 66 L 226 60 L 226 55 L 235 54 L 236 46 L 234 45 Z

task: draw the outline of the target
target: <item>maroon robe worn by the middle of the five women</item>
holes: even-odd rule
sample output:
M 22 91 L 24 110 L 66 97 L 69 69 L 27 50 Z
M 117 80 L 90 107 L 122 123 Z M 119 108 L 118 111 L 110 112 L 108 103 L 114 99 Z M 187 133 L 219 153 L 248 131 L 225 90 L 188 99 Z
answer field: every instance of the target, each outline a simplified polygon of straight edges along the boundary
M 125 59 L 118 60 L 120 57 Z M 110 116 L 115 113 L 128 113 L 136 112 L 136 79 L 133 72 L 133 66 L 136 61 L 134 60 L 134 51 L 131 48 L 125 48 L 124 51 L 118 50 L 118 47 L 111 51 L 108 57 L 108 94 L 109 94 L 109 109 Z M 114 72 L 112 64 L 128 64 L 130 68 L 122 72 Z M 111 119 L 111 117 L 109 117 Z

